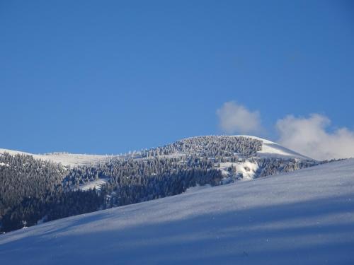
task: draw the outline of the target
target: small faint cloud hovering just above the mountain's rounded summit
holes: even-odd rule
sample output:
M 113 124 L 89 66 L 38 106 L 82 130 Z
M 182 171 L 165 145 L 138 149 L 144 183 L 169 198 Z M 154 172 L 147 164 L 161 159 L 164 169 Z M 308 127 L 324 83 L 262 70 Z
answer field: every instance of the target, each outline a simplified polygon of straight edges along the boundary
M 251 112 L 236 102 L 225 102 L 217 110 L 217 116 L 222 131 L 227 134 L 249 134 L 261 131 L 259 112 Z

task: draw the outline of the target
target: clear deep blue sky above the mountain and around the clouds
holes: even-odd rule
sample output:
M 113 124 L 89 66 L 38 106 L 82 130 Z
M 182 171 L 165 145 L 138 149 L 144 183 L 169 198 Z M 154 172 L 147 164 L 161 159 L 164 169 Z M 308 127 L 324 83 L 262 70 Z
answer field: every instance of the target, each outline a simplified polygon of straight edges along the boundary
M 220 134 L 236 100 L 354 129 L 351 1 L 0 1 L 0 147 L 120 153 Z

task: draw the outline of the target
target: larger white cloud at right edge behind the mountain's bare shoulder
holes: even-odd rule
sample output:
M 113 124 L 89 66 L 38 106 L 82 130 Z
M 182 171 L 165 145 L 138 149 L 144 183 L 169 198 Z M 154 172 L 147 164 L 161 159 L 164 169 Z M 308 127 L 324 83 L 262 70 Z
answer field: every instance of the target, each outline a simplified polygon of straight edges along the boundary
M 307 118 L 292 115 L 278 120 L 279 143 L 310 158 L 325 160 L 354 157 L 354 131 L 346 128 L 332 133 L 328 117 L 312 114 Z

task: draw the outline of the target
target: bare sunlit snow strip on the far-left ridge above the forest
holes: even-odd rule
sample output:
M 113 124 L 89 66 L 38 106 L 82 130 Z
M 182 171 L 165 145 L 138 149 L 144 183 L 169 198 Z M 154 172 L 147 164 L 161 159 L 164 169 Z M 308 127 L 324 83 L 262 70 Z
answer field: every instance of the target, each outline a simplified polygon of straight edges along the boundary
M 33 155 L 33 158 L 48 160 L 53 163 L 61 163 L 62 165 L 97 165 L 104 163 L 110 158 L 117 157 L 116 155 L 86 155 L 86 154 L 74 154 L 74 153 L 47 153 L 47 154 L 32 154 L 25 153 L 21 151 L 13 151 L 8 149 L 1 149 L 0 154 L 4 152 L 10 153 L 11 155 L 22 154 L 22 155 Z

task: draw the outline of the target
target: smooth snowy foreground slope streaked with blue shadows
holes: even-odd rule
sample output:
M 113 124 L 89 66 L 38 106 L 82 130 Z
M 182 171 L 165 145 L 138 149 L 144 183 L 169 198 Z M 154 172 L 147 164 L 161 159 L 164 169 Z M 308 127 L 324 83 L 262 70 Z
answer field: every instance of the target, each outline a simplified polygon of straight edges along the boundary
M 0 235 L 0 264 L 354 264 L 354 160 Z

